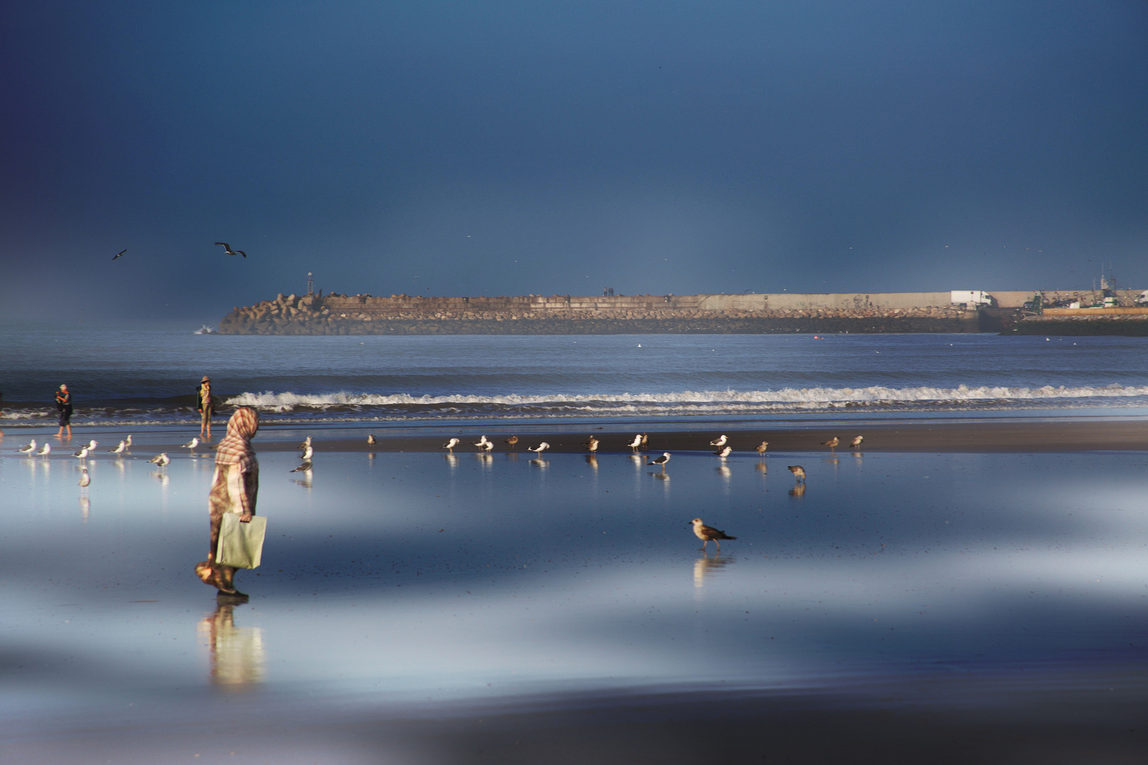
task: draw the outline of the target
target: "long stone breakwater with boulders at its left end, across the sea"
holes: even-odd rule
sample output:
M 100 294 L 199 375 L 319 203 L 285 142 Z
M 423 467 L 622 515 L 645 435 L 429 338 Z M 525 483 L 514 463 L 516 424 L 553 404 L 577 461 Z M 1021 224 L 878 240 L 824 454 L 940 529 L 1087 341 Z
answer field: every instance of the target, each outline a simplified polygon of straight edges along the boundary
M 738 296 L 722 296 L 735 303 Z M 704 307 L 707 296 L 424 298 L 279 295 L 219 322 L 232 335 L 612 335 L 999 331 L 962 307 Z M 988 323 L 992 323 L 990 320 Z

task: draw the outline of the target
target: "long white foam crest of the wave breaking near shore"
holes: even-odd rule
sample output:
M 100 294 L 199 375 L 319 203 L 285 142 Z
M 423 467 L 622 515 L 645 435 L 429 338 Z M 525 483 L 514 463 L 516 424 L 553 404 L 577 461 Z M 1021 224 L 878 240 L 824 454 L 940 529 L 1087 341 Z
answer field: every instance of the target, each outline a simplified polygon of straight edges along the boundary
M 1055 399 L 1089 399 L 1089 398 L 1133 398 L 1148 397 L 1148 387 L 1083 385 L 1069 388 L 1063 385 L 1045 385 L 1041 388 L 1006 388 L 1006 387 L 967 387 L 957 388 L 887 388 L 875 385 L 870 388 L 783 388 L 781 390 L 751 391 L 682 391 L 672 393 L 584 393 L 569 396 L 565 393 L 550 395 L 504 395 L 504 396 L 409 396 L 406 393 L 241 393 L 227 399 L 232 406 L 255 406 L 270 412 L 287 412 L 297 407 L 379 407 L 379 406 L 472 406 L 495 405 L 505 407 L 579 407 L 587 411 L 599 407 L 611 411 L 642 405 L 670 405 L 689 408 L 690 405 L 714 405 L 727 407 L 770 407 L 776 405 L 850 405 L 850 404 L 956 404 L 988 401 L 1031 401 Z

